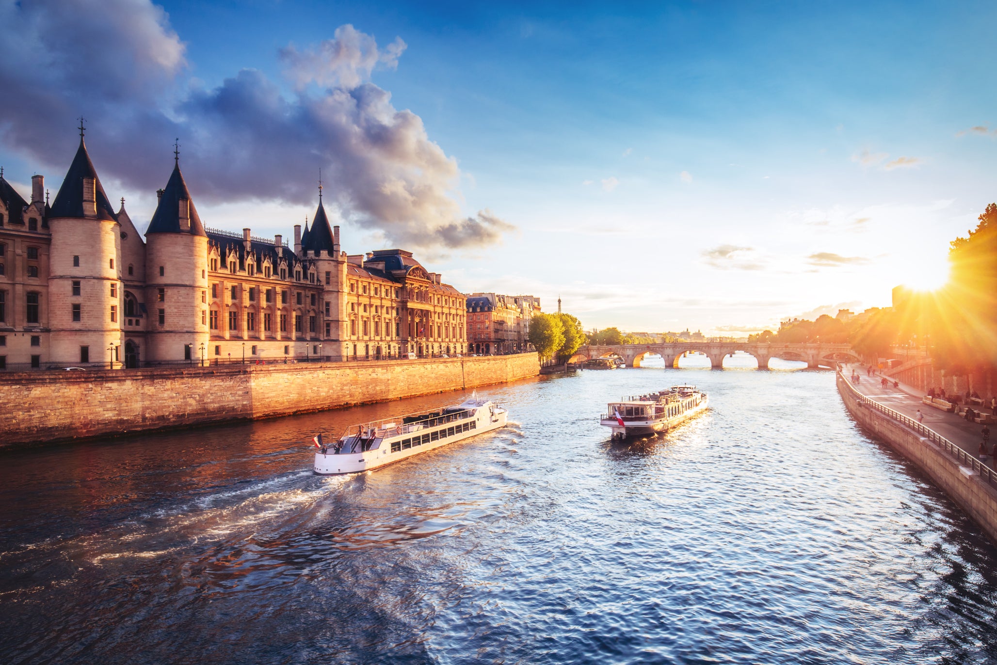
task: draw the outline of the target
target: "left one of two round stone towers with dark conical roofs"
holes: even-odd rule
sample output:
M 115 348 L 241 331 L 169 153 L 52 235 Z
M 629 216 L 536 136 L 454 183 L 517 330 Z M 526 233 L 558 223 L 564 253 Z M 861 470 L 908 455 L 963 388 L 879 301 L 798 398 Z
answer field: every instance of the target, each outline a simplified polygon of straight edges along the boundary
M 49 359 L 118 367 L 122 345 L 121 225 L 80 132 L 80 148 L 49 212 Z

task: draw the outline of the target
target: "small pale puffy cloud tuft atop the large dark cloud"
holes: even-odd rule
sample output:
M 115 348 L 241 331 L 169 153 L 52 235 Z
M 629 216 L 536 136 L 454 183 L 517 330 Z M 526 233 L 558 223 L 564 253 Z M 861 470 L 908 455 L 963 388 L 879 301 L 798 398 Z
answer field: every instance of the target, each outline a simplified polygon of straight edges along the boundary
M 406 49 L 400 37 L 378 49 L 370 35 L 358 32 L 352 25 L 336 28 L 332 39 L 315 47 L 297 50 L 293 45 L 279 51 L 284 75 L 299 89 L 310 83 L 330 88 L 353 90 L 370 81 L 377 66 L 397 69 L 398 58 Z

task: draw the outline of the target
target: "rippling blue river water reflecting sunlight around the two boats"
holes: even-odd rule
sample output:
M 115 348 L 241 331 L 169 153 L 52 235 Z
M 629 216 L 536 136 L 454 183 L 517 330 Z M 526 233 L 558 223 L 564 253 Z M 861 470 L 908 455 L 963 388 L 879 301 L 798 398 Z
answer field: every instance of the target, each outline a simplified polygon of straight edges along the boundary
M 682 382 L 708 413 L 608 442 Z M 460 396 L 0 454 L 0 662 L 997 662 L 997 550 L 830 372 L 482 393 L 508 428 L 345 479 L 315 432 Z

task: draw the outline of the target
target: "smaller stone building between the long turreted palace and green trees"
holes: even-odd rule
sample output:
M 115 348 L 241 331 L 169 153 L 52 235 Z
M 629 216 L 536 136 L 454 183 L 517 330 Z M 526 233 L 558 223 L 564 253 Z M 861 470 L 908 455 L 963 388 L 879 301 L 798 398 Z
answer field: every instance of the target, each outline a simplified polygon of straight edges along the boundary
M 468 352 L 502 354 L 529 348 L 529 321 L 540 312 L 531 295 L 472 293 L 468 300 Z

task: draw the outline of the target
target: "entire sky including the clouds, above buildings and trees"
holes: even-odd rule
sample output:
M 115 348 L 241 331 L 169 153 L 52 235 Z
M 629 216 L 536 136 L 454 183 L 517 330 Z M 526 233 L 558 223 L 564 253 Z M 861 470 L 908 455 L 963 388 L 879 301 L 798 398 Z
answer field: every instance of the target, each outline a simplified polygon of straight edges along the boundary
M 587 328 L 743 335 L 939 285 L 997 199 L 993 3 L 0 0 L 0 165 Z M 336 223 L 335 221 L 333 223 Z

